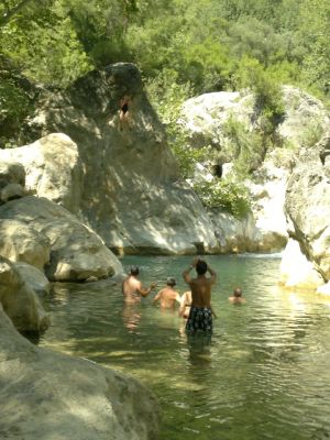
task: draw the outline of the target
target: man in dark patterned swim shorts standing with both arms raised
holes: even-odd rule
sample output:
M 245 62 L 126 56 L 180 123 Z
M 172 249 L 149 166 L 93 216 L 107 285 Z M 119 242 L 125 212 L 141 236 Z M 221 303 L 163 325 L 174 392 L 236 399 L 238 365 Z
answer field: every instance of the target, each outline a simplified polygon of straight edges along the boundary
M 197 277 L 191 278 L 190 271 L 195 268 Z M 210 276 L 206 276 L 209 273 Z M 191 308 L 186 322 L 186 332 L 195 334 L 197 330 L 211 333 L 213 330 L 211 290 L 217 282 L 216 272 L 200 258 L 195 258 L 184 271 L 183 277 L 191 289 Z

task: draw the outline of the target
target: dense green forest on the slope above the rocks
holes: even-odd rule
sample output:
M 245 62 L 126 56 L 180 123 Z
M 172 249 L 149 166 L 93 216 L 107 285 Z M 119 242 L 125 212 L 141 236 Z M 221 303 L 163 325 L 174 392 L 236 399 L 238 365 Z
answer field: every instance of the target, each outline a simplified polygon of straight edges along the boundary
M 32 111 L 24 78 L 65 88 L 132 62 L 170 130 L 180 102 L 251 88 L 268 117 L 278 85 L 330 97 L 329 0 L 2 0 L 0 143 Z M 30 94 L 30 95 L 29 95 Z

